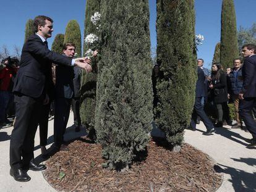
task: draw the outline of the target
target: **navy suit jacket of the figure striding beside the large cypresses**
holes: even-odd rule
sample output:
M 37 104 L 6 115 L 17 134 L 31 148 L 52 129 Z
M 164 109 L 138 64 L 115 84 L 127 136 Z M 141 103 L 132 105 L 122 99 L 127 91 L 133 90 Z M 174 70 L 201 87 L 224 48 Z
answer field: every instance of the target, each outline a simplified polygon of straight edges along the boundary
M 197 67 L 197 83 L 195 85 L 195 97 L 207 96 L 207 89 L 205 87 L 205 73 L 200 67 Z

